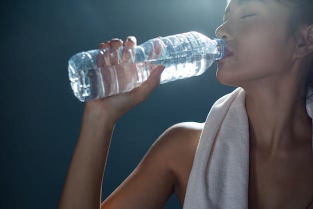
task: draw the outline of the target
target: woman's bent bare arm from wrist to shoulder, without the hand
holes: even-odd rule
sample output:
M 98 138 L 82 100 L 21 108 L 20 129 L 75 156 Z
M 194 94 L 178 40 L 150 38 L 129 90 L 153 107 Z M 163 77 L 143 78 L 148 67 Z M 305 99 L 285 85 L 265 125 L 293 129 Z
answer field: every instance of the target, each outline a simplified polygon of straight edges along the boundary
M 162 208 L 174 192 L 176 178 L 169 159 L 173 158 L 177 149 L 178 140 L 174 138 L 179 136 L 179 128 L 172 126 L 167 129 L 133 172 L 100 205 L 102 178 L 113 126 L 98 115 L 85 109 L 83 128 L 58 209 Z

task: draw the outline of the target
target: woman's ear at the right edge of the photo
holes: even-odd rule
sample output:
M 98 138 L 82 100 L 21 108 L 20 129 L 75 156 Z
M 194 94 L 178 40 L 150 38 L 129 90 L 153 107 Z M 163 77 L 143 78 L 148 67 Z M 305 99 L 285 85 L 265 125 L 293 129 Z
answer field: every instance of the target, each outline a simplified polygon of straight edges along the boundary
M 313 25 L 301 26 L 295 35 L 295 56 L 305 57 L 313 52 Z

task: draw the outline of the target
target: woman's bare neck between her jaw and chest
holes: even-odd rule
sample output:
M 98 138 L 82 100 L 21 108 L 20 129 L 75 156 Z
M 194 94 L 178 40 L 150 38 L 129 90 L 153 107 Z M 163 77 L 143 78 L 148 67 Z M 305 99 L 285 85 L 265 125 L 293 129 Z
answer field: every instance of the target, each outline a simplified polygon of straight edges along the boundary
M 291 85 L 290 85 L 291 84 Z M 304 86 L 297 82 L 266 83 L 244 88 L 250 143 L 270 153 L 311 144 L 312 119 L 305 108 Z

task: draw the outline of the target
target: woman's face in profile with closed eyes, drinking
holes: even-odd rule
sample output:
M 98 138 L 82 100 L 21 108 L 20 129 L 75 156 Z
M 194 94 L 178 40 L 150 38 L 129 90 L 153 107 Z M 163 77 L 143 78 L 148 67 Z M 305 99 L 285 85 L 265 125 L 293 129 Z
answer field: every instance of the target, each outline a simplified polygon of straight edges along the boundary
M 231 0 L 216 37 L 233 56 L 217 61 L 217 80 L 225 85 L 266 85 L 290 71 L 293 38 L 289 9 L 275 0 Z

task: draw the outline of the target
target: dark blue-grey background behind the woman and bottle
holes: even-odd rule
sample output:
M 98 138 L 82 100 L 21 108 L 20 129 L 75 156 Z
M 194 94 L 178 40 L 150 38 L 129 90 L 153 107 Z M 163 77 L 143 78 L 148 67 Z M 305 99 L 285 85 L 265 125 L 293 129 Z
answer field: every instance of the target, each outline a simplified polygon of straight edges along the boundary
M 188 31 L 215 38 L 224 1 L 1 1 L 0 208 L 56 208 L 79 134 L 84 103 L 73 95 L 67 61 L 111 38 L 137 43 Z M 216 64 L 198 77 L 160 85 L 117 122 L 102 200 L 136 167 L 154 140 L 182 121 L 203 122 L 233 90 Z M 172 196 L 164 208 L 181 208 Z

